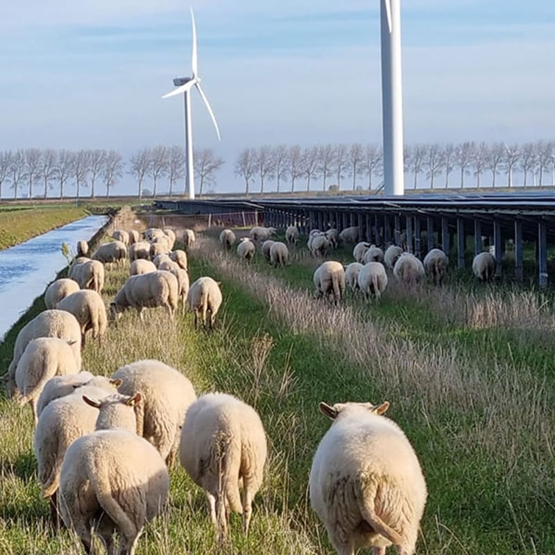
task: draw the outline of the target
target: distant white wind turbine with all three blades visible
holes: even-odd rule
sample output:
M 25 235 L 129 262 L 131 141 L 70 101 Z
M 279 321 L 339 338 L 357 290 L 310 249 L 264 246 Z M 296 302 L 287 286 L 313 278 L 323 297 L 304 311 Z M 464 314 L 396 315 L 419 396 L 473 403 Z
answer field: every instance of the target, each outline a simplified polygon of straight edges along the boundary
M 169 96 L 176 96 L 176 94 L 183 93 L 185 100 L 185 189 L 189 193 L 189 198 L 195 198 L 195 185 L 194 185 L 194 167 L 193 167 L 193 128 L 191 126 L 191 89 L 196 87 L 200 98 L 203 99 L 206 109 L 214 122 L 216 128 L 216 135 L 220 140 L 220 130 L 218 122 L 214 117 L 214 112 L 210 108 L 210 103 L 200 87 L 200 77 L 198 76 L 198 60 L 196 56 L 196 27 L 195 16 L 193 8 L 191 7 L 191 23 L 193 25 L 193 56 L 191 60 L 191 77 L 176 77 L 173 79 L 173 85 L 178 87 L 168 94 L 164 94 L 162 99 L 167 99 Z

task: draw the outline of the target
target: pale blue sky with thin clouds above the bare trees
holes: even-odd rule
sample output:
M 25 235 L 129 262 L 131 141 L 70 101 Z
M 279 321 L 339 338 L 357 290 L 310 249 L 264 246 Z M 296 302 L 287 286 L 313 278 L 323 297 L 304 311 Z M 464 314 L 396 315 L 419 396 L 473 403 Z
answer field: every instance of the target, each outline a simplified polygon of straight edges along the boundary
M 0 151 L 183 144 L 185 0 L 5 0 Z M 379 1 L 196 0 L 195 148 L 382 142 Z M 553 0 L 401 0 L 404 142 L 555 139 Z M 147 185 L 148 186 L 148 185 Z M 126 177 L 114 194 L 133 193 Z

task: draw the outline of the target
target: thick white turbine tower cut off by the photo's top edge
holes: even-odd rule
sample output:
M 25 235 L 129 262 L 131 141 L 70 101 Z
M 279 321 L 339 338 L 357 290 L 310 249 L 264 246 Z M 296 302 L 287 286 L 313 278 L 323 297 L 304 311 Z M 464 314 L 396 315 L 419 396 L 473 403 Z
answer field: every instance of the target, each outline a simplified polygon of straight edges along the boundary
M 384 190 L 404 194 L 400 0 L 379 0 L 382 35 Z

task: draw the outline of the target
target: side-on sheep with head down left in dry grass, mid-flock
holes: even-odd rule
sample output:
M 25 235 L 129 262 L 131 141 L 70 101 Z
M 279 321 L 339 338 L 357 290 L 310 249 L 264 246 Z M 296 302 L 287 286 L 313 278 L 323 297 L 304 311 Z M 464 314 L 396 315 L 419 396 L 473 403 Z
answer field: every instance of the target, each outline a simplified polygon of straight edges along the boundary
M 178 306 L 178 280 L 175 275 L 163 270 L 131 275 L 110 302 L 110 316 L 116 318 L 126 308 L 135 308 L 139 318 L 142 310 L 152 307 L 166 307 L 173 320 Z

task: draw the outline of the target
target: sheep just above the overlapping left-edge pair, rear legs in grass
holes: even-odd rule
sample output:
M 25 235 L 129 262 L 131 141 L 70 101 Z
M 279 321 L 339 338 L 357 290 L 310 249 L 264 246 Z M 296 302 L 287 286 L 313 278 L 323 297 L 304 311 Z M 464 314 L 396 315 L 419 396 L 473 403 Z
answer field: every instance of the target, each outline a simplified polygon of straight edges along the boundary
M 108 327 L 108 317 L 99 293 L 81 289 L 60 300 L 56 308 L 68 311 L 77 318 L 81 327 L 81 347 L 85 347 L 85 336 L 89 330 L 92 330 L 92 339 L 98 339 L 99 345 L 102 345 L 102 338 Z

